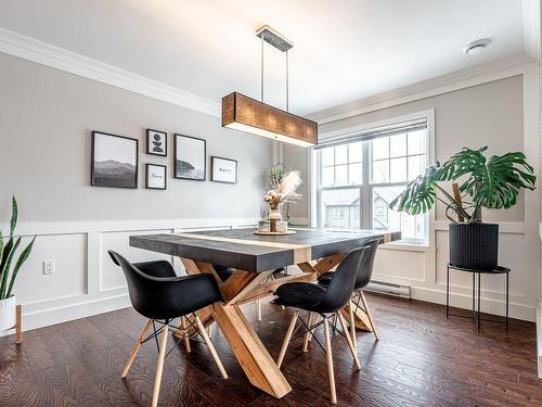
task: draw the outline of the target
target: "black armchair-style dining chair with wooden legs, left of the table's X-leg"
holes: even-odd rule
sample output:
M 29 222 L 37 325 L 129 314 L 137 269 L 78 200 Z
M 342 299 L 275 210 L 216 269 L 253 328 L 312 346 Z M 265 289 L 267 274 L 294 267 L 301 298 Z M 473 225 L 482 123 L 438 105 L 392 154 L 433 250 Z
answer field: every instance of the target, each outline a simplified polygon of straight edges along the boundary
M 152 406 L 156 407 L 158 404 L 164 359 L 167 356 L 168 332 L 170 329 L 175 331 L 179 330 L 177 327 L 171 326 L 170 322 L 175 318 L 181 318 L 183 322 L 181 331 L 185 341 L 189 341 L 191 329 L 199 333 L 207 343 L 207 346 L 209 346 L 210 354 L 222 377 L 228 379 L 228 374 L 218 357 L 215 346 L 210 342 L 202 321 L 194 314 L 196 310 L 214 303 L 223 303 L 222 293 L 215 277 L 210 275 L 177 277 L 169 262 L 156 260 L 131 264 L 114 251 L 108 251 L 107 253 L 109 253 L 113 263 L 120 266 L 125 274 L 133 308 L 145 318 L 149 318 L 120 377 L 124 379 L 128 374 L 141 345 L 155 339 L 158 346 L 158 361 L 156 365 Z M 191 314 L 192 318 L 190 319 L 189 316 Z M 162 327 L 156 329 L 156 323 Z M 153 333 L 147 335 L 151 327 L 153 327 Z

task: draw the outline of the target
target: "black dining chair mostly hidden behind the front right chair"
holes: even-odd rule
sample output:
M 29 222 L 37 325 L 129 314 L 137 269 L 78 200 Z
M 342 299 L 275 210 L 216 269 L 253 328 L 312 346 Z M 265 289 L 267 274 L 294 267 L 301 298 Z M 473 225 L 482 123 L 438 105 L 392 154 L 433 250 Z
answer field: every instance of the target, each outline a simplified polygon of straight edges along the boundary
M 373 276 L 373 266 L 374 258 L 376 256 L 376 250 L 378 245 L 382 243 L 382 239 L 372 239 L 365 243 L 365 247 L 367 247 L 367 252 L 361 259 L 360 268 L 358 269 L 358 276 L 356 278 L 356 285 L 353 288 L 353 295 L 348 305 L 350 310 L 350 333 L 352 335 L 353 346 L 357 347 L 356 341 L 356 313 L 361 307 L 360 302 L 362 303 L 362 309 L 365 311 L 369 323 L 371 323 L 371 329 L 373 330 L 373 334 L 376 341 L 378 341 L 378 333 L 376 332 L 376 326 L 374 325 L 373 316 L 371 315 L 371 310 L 369 309 L 367 302 L 365 300 L 365 294 L 363 293 L 363 289 L 371 281 L 371 277 Z M 318 283 L 322 287 L 328 287 L 334 276 L 333 271 L 324 272 L 320 275 L 318 278 Z

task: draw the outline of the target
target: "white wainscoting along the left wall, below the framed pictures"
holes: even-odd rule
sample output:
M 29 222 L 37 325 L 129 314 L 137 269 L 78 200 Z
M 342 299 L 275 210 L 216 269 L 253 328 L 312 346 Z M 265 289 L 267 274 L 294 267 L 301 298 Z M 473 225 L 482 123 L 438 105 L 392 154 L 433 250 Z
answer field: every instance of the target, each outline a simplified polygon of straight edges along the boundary
M 257 222 L 255 218 L 21 222 L 17 232 L 24 242 L 37 236 L 34 251 L 14 288 L 17 303 L 23 304 L 23 330 L 130 306 L 122 271 L 113 265 L 108 249 L 131 262 L 172 260 L 176 272 L 183 272 L 178 258 L 130 247 L 132 234 L 233 229 Z M 0 225 L 2 230 L 8 228 L 5 224 Z M 55 262 L 53 275 L 43 275 L 43 260 Z M 0 335 L 10 333 L 13 332 L 4 331 Z

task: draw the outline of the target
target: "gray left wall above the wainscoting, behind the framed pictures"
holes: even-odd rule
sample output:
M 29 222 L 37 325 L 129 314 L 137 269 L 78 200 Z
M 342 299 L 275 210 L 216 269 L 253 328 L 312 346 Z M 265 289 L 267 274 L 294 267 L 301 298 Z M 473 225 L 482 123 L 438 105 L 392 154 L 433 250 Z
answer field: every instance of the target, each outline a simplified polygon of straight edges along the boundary
M 222 129 L 217 117 L 2 53 L 0 73 L 2 221 L 11 194 L 25 221 L 259 216 L 271 142 Z M 144 153 L 146 127 L 168 131 L 168 157 Z M 138 190 L 90 187 L 91 130 L 140 140 Z M 238 183 L 173 179 L 172 132 L 206 139 L 208 157 L 237 160 Z M 145 163 L 168 166 L 167 191 L 144 189 Z

